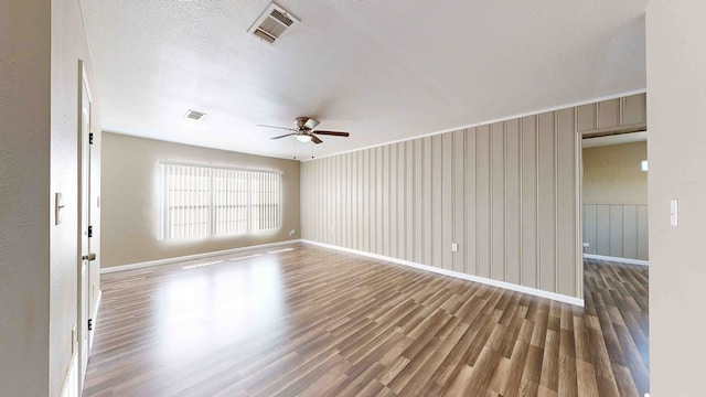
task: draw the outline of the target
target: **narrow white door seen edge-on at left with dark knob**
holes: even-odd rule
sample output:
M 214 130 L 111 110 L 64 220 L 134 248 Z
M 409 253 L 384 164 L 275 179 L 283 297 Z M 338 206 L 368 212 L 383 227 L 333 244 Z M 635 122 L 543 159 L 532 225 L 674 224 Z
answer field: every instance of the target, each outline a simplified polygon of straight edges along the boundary
M 78 124 L 78 167 L 81 170 L 78 181 L 78 216 L 79 216 L 79 244 L 81 260 L 78 264 L 78 385 L 79 390 L 83 389 L 84 376 L 88 365 L 88 356 L 90 353 L 92 334 L 89 330 L 90 320 L 90 261 L 95 259 L 95 254 L 90 250 L 90 90 L 86 74 L 82 69 L 81 83 L 81 120 Z

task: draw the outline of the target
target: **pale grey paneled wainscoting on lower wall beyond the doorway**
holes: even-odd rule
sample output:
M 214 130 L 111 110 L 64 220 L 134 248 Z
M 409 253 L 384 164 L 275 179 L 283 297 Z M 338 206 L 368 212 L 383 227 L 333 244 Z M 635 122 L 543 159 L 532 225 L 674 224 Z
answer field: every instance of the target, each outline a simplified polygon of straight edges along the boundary
M 586 254 L 648 260 L 648 206 L 584 204 Z

